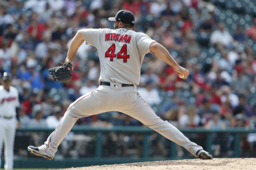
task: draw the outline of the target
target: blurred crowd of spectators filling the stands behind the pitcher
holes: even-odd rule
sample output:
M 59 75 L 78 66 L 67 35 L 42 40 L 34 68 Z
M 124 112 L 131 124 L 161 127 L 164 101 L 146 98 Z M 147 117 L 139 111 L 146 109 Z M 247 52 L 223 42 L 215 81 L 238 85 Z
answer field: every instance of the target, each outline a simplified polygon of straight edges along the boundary
M 3 0 L 0 70 L 13 75 L 12 85 L 19 90 L 21 127 L 54 128 L 71 102 L 97 88 L 100 66 L 92 46 L 79 47 L 71 80 L 53 81 L 48 69 L 64 62 L 77 30 L 113 28 L 107 18 L 121 9 L 135 14 L 135 31 L 163 44 L 190 71 L 188 79 L 181 80 L 153 54 L 145 56 L 139 92 L 159 116 L 178 128 L 255 127 L 252 15 L 240 22 L 239 15 L 226 10 L 234 15 L 229 23 L 223 20 L 224 10 L 202 0 Z M 141 125 L 117 112 L 81 118 L 77 124 Z M 244 142 L 251 147 L 255 135 Z

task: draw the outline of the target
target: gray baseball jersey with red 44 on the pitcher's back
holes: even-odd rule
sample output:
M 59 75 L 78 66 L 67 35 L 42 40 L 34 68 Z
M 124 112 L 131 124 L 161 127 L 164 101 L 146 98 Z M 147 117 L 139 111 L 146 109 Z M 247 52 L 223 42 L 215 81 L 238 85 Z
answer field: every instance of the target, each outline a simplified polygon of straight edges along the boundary
M 98 49 L 99 81 L 139 84 L 143 58 L 155 40 L 124 28 L 83 29 L 81 33 L 86 44 Z

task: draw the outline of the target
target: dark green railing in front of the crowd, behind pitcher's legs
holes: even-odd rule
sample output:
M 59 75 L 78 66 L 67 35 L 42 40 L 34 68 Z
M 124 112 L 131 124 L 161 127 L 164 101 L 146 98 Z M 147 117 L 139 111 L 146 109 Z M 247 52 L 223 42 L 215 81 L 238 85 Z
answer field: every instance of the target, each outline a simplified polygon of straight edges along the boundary
M 51 133 L 54 129 L 49 128 L 20 128 L 17 132 L 46 132 Z M 228 128 L 211 130 L 204 128 L 190 128 L 190 129 L 179 129 L 185 134 L 204 133 L 206 136 L 205 150 L 212 151 L 213 133 L 229 133 L 234 135 L 234 150 L 233 157 L 239 157 L 240 146 L 241 146 L 241 134 L 242 133 L 256 133 L 256 129 L 245 129 L 245 128 Z M 177 157 L 177 148 L 175 143 L 171 142 L 170 157 L 167 158 L 151 158 L 149 156 L 150 140 L 149 136 L 151 133 L 156 133 L 153 130 L 145 126 L 113 126 L 111 128 L 93 128 L 92 126 L 74 126 L 71 129 L 73 132 L 90 132 L 95 134 L 95 147 L 93 158 L 63 158 L 53 159 L 51 161 L 38 158 L 17 158 L 14 160 L 14 168 L 61 168 L 61 167 L 74 167 L 74 166 L 90 166 L 90 165 L 103 165 L 103 164 L 120 164 L 120 163 L 133 163 L 133 162 L 145 162 L 154 160 L 171 160 L 180 159 Z M 102 157 L 102 137 L 104 134 L 109 132 L 117 133 L 129 133 L 129 134 L 142 134 L 142 156 L 140 158 L 106 158 Z M 14 146 L 15 147 L 15 146 Z M 26 149 L 26 148 L 25 148 Z M 3 161 L 3 160 L 2 160 Z M 2 164 L 3 166 L 4 164 Z

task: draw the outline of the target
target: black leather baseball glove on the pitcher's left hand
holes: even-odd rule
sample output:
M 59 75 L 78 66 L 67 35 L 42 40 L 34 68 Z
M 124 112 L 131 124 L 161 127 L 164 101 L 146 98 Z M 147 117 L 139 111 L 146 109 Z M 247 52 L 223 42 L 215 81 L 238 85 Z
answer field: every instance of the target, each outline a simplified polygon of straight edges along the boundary
M 67 81 L 72 77 L 73 65 L 71 63 L 65 63 L 58 67 L 49 69 L 49 73 L 52 75 L 55 81 Z

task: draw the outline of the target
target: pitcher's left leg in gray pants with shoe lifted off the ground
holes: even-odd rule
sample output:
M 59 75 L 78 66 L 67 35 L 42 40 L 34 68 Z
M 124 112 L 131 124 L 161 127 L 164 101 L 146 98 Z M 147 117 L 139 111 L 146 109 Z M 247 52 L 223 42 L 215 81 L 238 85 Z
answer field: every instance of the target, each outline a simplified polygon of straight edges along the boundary
M 107 99 L 108 95 L 109 94 L 105 91 L 98 91 L 98 89 L 95 89 L 89 94 L 78 98 L 74 103 L 70 104 L 57 128 L 55 128 L 47 138 L 44 145 L 36 149 L 33 148 L 33 146 L 28 147 L 28 150 L 32 150 L 32 153 L 35 155 L 37 154 L 39 156 L 43 155 L 42 157 L 47 156 L 53 158 L 61 141 L 66 137 L 78 118 L 109 111 L 111 108 L 111 100 Z

